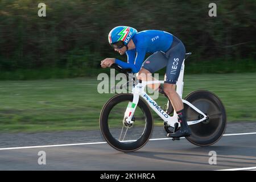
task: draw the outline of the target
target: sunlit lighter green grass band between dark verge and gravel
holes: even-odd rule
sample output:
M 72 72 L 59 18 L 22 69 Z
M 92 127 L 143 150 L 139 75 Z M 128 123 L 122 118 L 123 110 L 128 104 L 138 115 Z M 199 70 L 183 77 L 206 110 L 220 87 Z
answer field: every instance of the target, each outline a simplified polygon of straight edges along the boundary
M 256 121 L 256 73 L 185 75 L 183 97 L 197 89 L 217 94 L 228 122 Z M 97 78 L 0 81 L 0 131 L 98 129 L 102 106 L 114 94 L 99 94 Z M 160 96 L 159 105 L 165 104 Z M 155 123 L 162 123 L 154 114 Z

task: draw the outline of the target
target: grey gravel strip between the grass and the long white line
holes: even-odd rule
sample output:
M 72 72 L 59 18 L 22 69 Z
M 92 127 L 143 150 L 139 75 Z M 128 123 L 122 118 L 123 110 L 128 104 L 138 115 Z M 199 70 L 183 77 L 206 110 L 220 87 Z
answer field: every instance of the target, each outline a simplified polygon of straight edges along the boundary
M 252 132 L 256 132 L 256 122 L 228 122 L 225 130 L 225 134 Z M 164 137 L 166 137 L 166 131 L 163 127 L 155 126 L 151 138 Z M 0 133 L 0 148 L 104 141 L 100 129 L 44 133 Z

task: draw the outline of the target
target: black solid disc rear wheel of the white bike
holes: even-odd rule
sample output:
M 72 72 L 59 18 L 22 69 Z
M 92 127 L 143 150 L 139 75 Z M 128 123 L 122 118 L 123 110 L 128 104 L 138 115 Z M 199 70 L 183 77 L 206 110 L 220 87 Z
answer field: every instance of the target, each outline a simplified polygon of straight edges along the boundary
M 185 100 L 196 106 L 207 114 L 208 121 L 195 125 L 189 125 L 192 131 L 186 139 L 197 146 L 210 146 L 216 143 L 224 134 L 226 129 L 226 111 L 220 98 L 206 90 L 197 90 L 189 93 Z M 187 121 L 199 120 L 200 115 L 187 104 L 184 104 Z

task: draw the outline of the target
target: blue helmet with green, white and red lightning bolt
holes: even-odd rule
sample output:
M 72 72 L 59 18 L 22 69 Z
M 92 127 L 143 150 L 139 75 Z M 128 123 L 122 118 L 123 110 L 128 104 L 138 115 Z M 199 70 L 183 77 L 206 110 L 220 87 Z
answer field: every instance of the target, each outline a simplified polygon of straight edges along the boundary
M 118 26 L 114 27 L 110 32 L 109 32 L 109 44 L 116 44 L 116 43 L 123 43 L 124 46 L 126 46 L 131 38 L 135 34 L 137 34 L 137 30 L 132 27 L 127 27 L 127 26 Z

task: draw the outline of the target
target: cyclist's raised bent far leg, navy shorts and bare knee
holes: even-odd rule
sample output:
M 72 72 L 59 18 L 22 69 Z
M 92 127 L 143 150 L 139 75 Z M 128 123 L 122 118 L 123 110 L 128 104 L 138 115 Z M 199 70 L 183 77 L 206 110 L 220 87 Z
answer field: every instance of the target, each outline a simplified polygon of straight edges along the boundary
M 143 63 L 141 71 L 139 71 L 138 78 L 143 81 L 155 81 L 156 78 L 151 76 L 151 73 L 166 67 L 168 59 L 164 56 L 163 52 L 155 52 L 149 56 Z M 148 85 L 151 89 L 156 89 L 159 84 Z

